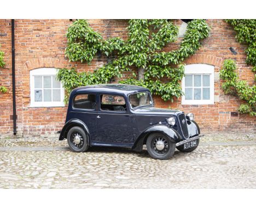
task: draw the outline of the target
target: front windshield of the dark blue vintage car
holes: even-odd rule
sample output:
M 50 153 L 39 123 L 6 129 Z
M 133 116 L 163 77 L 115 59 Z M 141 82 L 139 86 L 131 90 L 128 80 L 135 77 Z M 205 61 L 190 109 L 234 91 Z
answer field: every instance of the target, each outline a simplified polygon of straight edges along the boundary
M 149 92 L 133 93 L 128 97 L 132 109 L 139 106 L 153 106 L 152 97 Z

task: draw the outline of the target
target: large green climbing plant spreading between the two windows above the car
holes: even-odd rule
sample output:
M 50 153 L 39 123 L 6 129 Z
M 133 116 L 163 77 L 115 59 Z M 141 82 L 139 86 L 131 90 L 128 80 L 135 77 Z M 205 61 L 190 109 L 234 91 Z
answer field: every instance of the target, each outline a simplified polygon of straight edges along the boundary
M 129 20 L 127 29 L 128 39 L 124 41 L 121 38 L 104 40 L 86 20 L 77 20 L 68 28 L 65 54 L 71 62 L 90 64 L 98 52 L 109 59 L 115 57 L 94 72 L 78 74 L 75 69 L 59 69 L 57 79 L 63 83 L 68 94 L 75 87 L 121 78 L 124 71 L 131 71 L 133 77 L 120 83 L 147 87 L 165 101 L 173 101 L 173 97 L 183 94 L 179 84 L 184 76 L 182 62 L 194 54 L 200 48 L 201 41 L 207 38 L 210 28 L 206 21 L 189 22 L 181 46 L 171 52 L 161 50 L 166 44 L 177 40 L 178 27 L 172 21 Z

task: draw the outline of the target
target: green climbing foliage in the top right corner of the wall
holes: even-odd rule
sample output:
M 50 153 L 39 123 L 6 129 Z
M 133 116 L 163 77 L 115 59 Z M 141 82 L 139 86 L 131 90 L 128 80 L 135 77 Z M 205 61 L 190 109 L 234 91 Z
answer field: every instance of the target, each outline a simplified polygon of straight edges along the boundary
M 256 20 L 226 20 L 236 31 L 236 39 L 240 43 L 248 44 L 245 51 L 247 64 L 253 65 L 252 70 L 256 72 Z

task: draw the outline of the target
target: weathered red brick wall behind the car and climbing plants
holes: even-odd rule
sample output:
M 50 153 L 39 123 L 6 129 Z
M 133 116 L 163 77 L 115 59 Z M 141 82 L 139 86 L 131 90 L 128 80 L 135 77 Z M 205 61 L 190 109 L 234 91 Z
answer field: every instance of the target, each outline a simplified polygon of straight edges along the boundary
M 90 25 L 100 32 L 104 38 L 120 36 L 127 39 L 127 20 L 89 20 Z M 211 35 L 203 41 L 202 47 L 186 60 L 190 63 L 205 63 L 215 66 L 218 72 L 223 60 L 233 58 L 237 61 L 238 73 L 241 79 L 246 79 L 253 84 L 254 74 L 246 65 L 246 45 L 235 40 L 234 30 L 223 20 L 208 20 Z M 96 57 L 91 65 L 69 63 L 65 58 L 65 37 L 69 20 L 15 20 L 15 62 L 16 62 L 16 101 L 18 114 L 18 135 L 21 134 L 49 134 L 60 130 L 64 124 L 66 107 L 31 108 L 30 106 L 30 70 L 52 67 L 71 68 L 78 71 L 94 70 L 107 62 L 104 56 Z M 181 20 L 176 21 L 177 25 Z M 182 38 L 174 44 L 168 44 L 164 51 L 178 47 Z M 11 134 L 13 114 L 11 94 L 11 23 L 10 20 L 0 20 L 0 44 L 5 52 L 7 65 L 0 70 L 0 83 L 8 87 L 8 93 L 0 94 L 0 134 Z M 229 47 L 234 47 L 237 55 L 233 55 Z M 235 112 L 240 105 L 237 97 L 224 95 L 220 88 L 220 81 L 215 82 L 215 95 L 219 102 L 214 105 L 188 106 L 181 105 L 181 99 L 173 103 L 164 102 L 159 97 L 155 98 L 157 107 L 177 108 L 184 112 L 193 112 L 196 121 L 203 132 L 206 131 L 255 131 L 256 119 L 248 115 L 231 117 L 230 112 Z

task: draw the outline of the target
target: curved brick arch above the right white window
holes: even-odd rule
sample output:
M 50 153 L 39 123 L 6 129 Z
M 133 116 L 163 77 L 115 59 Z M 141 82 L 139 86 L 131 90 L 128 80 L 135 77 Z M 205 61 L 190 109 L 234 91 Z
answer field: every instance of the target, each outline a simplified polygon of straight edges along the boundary
M 195 54 L 186 60 L 185 64 L 210 64 L 221 68 L 223 64 L 223 59 L 216 56 L 206 55 L 206 54 Z

